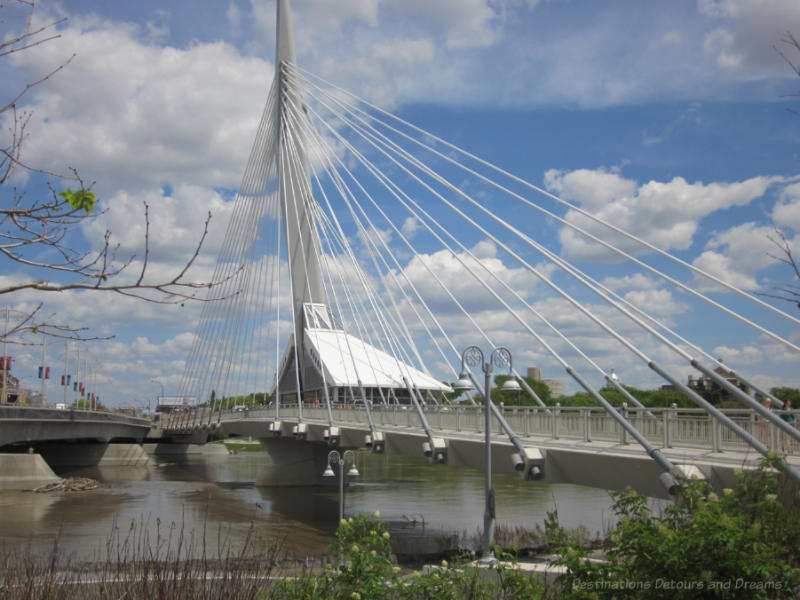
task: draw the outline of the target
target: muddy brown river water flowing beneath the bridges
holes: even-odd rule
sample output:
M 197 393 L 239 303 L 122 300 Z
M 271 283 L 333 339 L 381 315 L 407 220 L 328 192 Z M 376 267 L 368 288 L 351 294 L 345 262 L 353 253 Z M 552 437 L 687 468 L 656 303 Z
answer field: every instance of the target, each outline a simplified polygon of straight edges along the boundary
M 483 473 L 431 465 L 422 459 L 357 454 L 361 476 L 346 491 L 346 513 L 379 510 L 387 521 L 424 520 L 437 531 L 473 533 L 483 522 Z M 155 542 L 183 530 L 196 541 L 195 552 L 212 556 L 246 539 L 279 541 L 294 556 L 322 554 L 332 541 L 338 518 L 338 488 L 263 488 L 254 482 L 265 455 L 155 457 L 149 467 L 71 470 L 104 483 L 88 492 L 0 493 L 0 550 L 21 544 L 92 560 L 104 555 L 118 528 Z M 534 528 L 558 508 L 561 523 L 606 529 L 610 498 L 603 490 L 572 485 L 522 482 L 513 475 L 494 477 L 497 521 Z M 198 541 L 204 540 L 204 541 Z

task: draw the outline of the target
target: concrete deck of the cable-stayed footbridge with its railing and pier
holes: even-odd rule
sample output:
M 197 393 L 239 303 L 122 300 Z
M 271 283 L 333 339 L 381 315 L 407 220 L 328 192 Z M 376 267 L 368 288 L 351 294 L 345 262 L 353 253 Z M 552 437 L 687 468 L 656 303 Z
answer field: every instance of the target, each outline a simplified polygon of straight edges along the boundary
M 602 408 L 506 407 L 501 409 L 512 424 L 526 456 L 497 426 L 492 435 L 492 467 L 499 472 L 519 472 L 523 479 L 546 483 L 573 483 L 609 490 L 630 486 L 652 497 L 670 498 L 661 483 L 658 464 L 629 439 L 624 430 Z M 706 413 L 692 409 L 625 409 L 653 444 L 689 477 L 701 477 L 715 487 L 730 486 L 739 469 L 754 468 L 761 455 L 723 430 Z M 431 429 L 441 448 L 429 459 L 451 466 L 483 469 L 484 434 L 481 407 L 426 407 Z M 756 421 L 751 411 L 727 411 L 743 427 Z M 325 408 L 282 407 L 280 418 L 274 409 L 225 412 L 218 416 L 219 431 L 252 436 L 261 441 L 272 457 L 273 466 L 260 483 L 308 485 L 319 483 L 327 453 L 333 448 L 365 448 L 371 437 L 365 411 L 352 406 L 333 409 L 336 427 L 328 424 Z M 425 456 L 429 438 L 419 427 L 413 407 L 374 407 L 372 417 L 380 431 L 380 451 L 389 454 Z M 762 426 L 763 427 L 763 426 Z M 332 435 L 333 433 L 333 435 Z M 776 451 L 785 441 L 780 432 L 765 430 L 765 441 Z M 369 440 L 372 442 L 372 440 Z M 371 444 L 371 449 L 376 450 Z M 786 450 L 792 449 L 791 446 Z M 441 451 L 437 455 L 436 452 Z M 800 453 L 800 448 L 794 448 Z M 796 454 L 787 456 L 800 466 Z M 535 467 L 535 470 L 532 470 Z

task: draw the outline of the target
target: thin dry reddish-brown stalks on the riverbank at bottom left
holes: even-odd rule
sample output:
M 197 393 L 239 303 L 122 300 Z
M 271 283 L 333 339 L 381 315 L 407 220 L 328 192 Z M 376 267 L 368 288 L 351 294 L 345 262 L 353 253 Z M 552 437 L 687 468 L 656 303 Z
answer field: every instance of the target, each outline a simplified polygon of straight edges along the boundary
M 280 543 L 259 543 L 251 528 L 241 547 L 220 540 L 206 552 L 207 532 L 188 535 L 175 523 L 132 522 L 110 533 L 103 556 L 78 562 L 58 541 L 48 554 L 30 546 L 0 556 L 3 600 L 257 600 L 281 563 Z

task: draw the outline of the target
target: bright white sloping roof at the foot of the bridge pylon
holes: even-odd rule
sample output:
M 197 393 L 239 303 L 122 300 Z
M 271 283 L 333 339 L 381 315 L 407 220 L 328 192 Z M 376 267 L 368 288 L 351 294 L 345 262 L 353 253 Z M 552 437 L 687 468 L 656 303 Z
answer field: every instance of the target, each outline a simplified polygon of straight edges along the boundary
M 453 391 L 448 385 L 415 369 L 342 329 L 306 329 L 306 349 L 331 387 L 405 389 L 405 377 L 419 390 Z

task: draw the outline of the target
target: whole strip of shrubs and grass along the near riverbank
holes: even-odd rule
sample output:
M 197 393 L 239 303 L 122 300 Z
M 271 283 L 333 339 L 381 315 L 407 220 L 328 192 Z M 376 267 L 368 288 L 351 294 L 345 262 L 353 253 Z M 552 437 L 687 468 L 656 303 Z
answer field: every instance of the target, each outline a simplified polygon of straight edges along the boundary
M 557 510 L 544 523 L 546 546 L 566 567 L 545 586 L 518 568 L 499 547 L 501 562 L 476 567 L 475 556 L 441 561 L 419 571 L 398 566 L 391 537 L 379 515 L 343 520 L 330 554 L 333 564 L 278 572 L 277 547 L 250 540 L 238 552 L 226 547 L 214 558 L 189 559 L 183 534 L 155 540 L 132 526 L 109 541 L 105 563 L 75 565 L 59 553 L 0 556 L 0 597 L 9 600 L 226 598 L 230 600 L 403 599 L 767 599 L 794 598 L 800 591 L 800 508 L 796 488 L 782 483 L 775 458 L 740 473 L 719 494 L 702 481 L 687 481 L 674 504 L 654 514 L 644 496 L 614 494 L 619 519 L 603 541 L 587 544 L 558 523 Z M 537 530 L 540 528 L 537 527 Z M 19 551 L 18 551 L 19 552 Z M 590 554 L 591 553 L 591 554 Z M 590 560 L 591 558 L 591 560 Z M 276 575 L 283 577 L 276 578 Z M 91 583 L 90 583 L 91 582 Z

